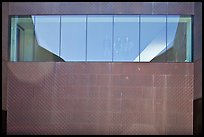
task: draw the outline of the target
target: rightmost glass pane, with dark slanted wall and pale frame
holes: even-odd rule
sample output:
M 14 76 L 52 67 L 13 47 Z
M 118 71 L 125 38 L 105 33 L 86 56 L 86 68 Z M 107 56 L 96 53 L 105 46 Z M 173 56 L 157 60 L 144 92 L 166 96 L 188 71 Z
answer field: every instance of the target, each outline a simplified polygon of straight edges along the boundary
M 167 61 L 191 62 L 191 17 L 167 17 Z

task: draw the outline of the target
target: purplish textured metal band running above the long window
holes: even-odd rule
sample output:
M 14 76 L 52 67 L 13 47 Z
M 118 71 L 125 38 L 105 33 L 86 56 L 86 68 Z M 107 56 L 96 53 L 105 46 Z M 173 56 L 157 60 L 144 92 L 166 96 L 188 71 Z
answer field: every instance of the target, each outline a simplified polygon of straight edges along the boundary
M 10 2 L 9 15 L 194 14 L 193 2 Z

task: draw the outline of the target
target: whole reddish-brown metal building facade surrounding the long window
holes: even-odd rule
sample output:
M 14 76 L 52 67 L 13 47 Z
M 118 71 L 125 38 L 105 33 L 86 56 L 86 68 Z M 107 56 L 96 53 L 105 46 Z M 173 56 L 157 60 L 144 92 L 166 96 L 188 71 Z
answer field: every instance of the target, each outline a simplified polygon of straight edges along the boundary
M 9 59 L 10 15 L 70 14 L 192 16 L 193 60 L 156 59 L 145 63 Z M 7 134 L 201 132 L 202 3 L 4 2 L 2 18 L 2 110 L 7 111 Z

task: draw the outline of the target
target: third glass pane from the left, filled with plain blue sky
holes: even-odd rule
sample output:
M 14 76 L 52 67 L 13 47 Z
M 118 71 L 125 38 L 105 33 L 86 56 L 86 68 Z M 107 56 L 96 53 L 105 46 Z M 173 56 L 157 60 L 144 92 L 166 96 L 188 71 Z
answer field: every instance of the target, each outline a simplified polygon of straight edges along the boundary
M 61 17 L 61 57 L 65 61 L 86 60 L 86 16 Z

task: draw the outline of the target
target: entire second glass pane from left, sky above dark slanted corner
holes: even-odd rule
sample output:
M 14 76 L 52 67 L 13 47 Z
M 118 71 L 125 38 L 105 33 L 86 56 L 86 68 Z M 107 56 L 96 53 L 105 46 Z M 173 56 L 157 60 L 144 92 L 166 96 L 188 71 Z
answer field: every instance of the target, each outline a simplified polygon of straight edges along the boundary
M 63 61 L 60 50 L 60 16 L 34 16 L 36 61 Z

